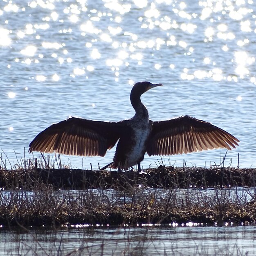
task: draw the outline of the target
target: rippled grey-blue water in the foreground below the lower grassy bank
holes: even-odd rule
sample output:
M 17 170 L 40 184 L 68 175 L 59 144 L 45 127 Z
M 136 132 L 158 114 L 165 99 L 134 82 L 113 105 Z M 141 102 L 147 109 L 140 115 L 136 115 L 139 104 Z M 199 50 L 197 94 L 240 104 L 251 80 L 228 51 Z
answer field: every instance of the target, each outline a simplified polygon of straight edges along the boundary
M 255 255 L 255 226 L 0 228 L 1 255 Z M 58 254 L 57 254 L 58 252 Z M 27 253 L 27 254 L 26 254 Z

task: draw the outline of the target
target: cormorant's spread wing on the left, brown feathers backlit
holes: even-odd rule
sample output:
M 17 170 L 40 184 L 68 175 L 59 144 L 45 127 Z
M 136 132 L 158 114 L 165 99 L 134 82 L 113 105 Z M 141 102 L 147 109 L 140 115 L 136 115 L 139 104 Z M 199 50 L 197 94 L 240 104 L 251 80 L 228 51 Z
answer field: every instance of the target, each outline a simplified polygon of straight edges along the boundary
M 40 132 L 29 144 L 29 152 L 104 156 L 119 139 L 122 125 L 71 117 Z

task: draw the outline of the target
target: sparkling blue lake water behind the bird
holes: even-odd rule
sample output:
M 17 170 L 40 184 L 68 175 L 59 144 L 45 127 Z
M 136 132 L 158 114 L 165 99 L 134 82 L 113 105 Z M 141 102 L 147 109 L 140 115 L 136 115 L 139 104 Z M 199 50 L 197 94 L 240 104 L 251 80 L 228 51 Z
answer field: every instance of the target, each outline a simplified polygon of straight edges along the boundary
M 150 119 L 209 121 L 240 140 L 226 165 L 237 166 L 239 153 L 240 167 L 256 167 L 255 13 L 254 0 L 0 0 L 0 148 L 7 166 L 31 157 L 38 132 L 70 115 L 132 117 L 132 85 L 148 80 L 164 85 L 142 97 Z M 62 162 L 97 168 L 114 153 Z M 163 161 L 209 167 L 224 155 Z M 142 167 L 158 160 L 146 156 Z

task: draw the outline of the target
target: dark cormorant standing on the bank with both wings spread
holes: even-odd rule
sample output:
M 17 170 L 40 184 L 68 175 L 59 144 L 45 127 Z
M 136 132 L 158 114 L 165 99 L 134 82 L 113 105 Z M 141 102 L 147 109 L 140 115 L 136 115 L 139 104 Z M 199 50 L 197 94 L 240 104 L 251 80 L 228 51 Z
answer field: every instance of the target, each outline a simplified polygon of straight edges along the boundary
M 135 115 L 131 119 L 111 122 L 69 117 L 40 132 L 29 144 L 29 153 L 103 157 L 117 143 L 113 162 L 105 168 L 121 171 L 137 164 L 140 173 L 145 153 L 176 155 L 217 148 L 231 150 L 238 146 L 240 141 L 230 133 L 188 115 L 150 120 L 141 95 L 158 86 L 162 83 L 142 81 L 133 85 L 130 103 Z

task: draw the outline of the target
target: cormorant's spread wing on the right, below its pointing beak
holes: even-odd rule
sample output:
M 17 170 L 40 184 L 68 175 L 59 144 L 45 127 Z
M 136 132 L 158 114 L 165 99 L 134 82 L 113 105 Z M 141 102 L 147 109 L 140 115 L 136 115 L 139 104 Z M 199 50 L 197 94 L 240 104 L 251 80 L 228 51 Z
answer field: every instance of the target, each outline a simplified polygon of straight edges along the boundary
M 148 155 L 175 155 L 214 148 L 236 148 L 239 140 L 202 120 L 189 116 L 153 122 Z

